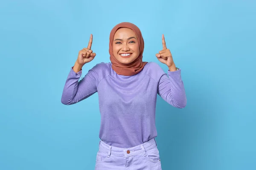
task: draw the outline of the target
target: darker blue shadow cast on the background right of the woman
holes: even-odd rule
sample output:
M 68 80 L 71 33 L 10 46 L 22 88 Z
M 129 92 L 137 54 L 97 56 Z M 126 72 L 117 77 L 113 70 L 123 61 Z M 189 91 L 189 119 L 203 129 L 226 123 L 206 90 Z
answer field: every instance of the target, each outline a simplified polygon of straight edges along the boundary
M 157 96 L 156 138 L 163 170 L 216 170 L 223 168 L 221 112 L 223 103 L 214 87 L 199 77 L 183 74 L 187 105 L 174 108 Z M 197 79 L 198 78 L 198 79 Z M 200 78 L 201 79 L 201 78 Z M 212 80 L 213 81 L 213 80 Z M 202 88 L 204 86 L 204 88 Z M 223 139 L 223 138 L 222 138 Z

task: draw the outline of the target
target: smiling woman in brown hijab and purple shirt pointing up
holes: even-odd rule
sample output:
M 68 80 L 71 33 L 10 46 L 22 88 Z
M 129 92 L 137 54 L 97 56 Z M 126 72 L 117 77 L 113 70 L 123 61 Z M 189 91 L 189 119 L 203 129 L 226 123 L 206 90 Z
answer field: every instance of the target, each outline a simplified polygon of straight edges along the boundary
M 177 108 L 186 105 L 186 94 L 172 54 L 166 48 L 156 54 L 169 68 L 168 75 L 154 62 L 143 62 L 144 40 L 132 23 L 119 23 L 110 33 L 110 63 L 95 65 L 83 79 L 81 69 L 96 56 L 79 51 L 64 85 L 61 102 L 72 105 L 98 92 L 101 125 L 96 170 L 161 170 L 155 137 L 157 94 Z

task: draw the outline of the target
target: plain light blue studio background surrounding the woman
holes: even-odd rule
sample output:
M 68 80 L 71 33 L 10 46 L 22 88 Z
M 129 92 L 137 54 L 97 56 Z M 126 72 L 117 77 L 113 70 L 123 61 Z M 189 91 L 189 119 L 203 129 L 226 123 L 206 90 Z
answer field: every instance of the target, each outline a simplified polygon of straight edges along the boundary
M 144 60 L 161 35 L 182 69 L 187 106 L 157 100 L 163 170 L 256 169 L 256 2 L 253 0 L 11 0 L 0 3 L 0 170 L 93 170 L 98 95 L 66 106 L 61 94 L 93 34 L 109 62 L 113 26 L 132 22 Z

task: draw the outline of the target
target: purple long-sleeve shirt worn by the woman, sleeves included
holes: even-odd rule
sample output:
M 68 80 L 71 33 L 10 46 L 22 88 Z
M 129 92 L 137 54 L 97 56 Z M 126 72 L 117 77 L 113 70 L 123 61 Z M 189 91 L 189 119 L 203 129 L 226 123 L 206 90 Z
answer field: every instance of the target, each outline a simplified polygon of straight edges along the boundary
M 134 76 L 116 74 L 111 63 L 99 63 L 81 77 L 81 71 L 68 74 L 61 102 L 72 105 L 98 93 L 101 124 L 99 138 L 115 147 L 134 147 L 157 136 L 155 109 L 157 94 L 177 108 L 186 106 L 181 70 L 168 75 L 154 62 L 148 62 Z

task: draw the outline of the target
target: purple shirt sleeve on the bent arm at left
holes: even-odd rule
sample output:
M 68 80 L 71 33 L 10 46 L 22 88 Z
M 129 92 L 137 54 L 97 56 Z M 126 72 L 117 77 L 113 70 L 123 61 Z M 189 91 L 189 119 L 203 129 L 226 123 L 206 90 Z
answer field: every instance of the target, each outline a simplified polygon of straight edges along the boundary
M 81 71 L 76 73 L 72 67 L 61 96 L 61 103 L 64 105 L 75 104 L 97 92 L 96 75 L 93 70 L 89 70 L 79 81 L 80 77 Z

